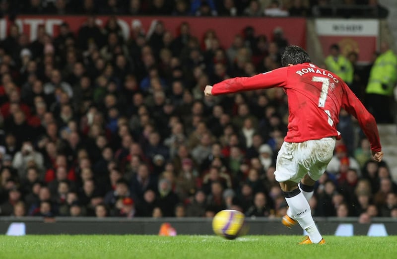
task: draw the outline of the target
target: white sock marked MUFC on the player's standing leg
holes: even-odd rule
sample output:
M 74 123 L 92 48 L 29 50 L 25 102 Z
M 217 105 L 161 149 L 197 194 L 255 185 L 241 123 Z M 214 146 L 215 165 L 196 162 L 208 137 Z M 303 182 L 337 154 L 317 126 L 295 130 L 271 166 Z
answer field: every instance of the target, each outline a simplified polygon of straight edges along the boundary
M 306 200 L 305 195 L 301 192 L 293 197 L 285 198 L 285 200 L 291 209 L 294 219 L 307 231 L 310 240 L 313 243 L 319 243 L 323 237 L 314 223 L 309 202 Z

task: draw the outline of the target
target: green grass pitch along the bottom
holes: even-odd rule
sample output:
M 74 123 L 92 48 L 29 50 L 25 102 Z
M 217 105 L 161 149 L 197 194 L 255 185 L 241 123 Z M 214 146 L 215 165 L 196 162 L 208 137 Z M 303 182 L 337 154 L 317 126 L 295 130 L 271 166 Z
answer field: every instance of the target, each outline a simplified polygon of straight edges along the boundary
M 299 246 L 300 236 L 81 235 L 0 237 L 0 259 L 395 259 L 397 236 L 326 236 Z

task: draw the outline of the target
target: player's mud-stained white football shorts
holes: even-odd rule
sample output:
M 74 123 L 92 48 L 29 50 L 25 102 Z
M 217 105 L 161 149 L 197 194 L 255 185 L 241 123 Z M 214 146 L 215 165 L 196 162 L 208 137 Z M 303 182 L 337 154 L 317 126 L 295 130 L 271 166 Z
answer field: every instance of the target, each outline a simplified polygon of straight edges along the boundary
M 284 141 L 277 155 L 276 181 L 299 183 L 305 174 L 315 181 L 319 180 L 331 161 L 335 142 L 334 137 L 300 143 Z

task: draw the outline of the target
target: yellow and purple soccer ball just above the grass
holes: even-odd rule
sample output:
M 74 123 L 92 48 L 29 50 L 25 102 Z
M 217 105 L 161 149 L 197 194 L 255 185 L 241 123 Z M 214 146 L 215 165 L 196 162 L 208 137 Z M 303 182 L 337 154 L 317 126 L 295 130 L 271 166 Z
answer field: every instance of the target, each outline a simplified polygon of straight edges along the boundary
M 244 229 L 244 214 L 233 209 L 221 210 L 212 220 L 212 229 L 218 236 L 235 239 Z

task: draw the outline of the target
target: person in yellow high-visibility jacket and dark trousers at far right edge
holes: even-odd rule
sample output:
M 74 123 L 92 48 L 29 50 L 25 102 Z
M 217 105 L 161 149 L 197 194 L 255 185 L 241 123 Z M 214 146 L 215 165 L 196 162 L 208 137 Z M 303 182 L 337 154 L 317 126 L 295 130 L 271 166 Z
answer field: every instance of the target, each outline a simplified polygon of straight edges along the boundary
M 371 68 L 365 90 L 369 111 L 377 123 L 393 123 L 391 114 L 393 89 L 397 82 L 397 56 L 386 42 L 381 43 L 381 55 Z

